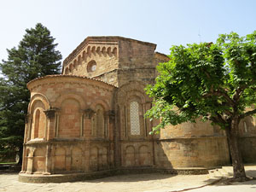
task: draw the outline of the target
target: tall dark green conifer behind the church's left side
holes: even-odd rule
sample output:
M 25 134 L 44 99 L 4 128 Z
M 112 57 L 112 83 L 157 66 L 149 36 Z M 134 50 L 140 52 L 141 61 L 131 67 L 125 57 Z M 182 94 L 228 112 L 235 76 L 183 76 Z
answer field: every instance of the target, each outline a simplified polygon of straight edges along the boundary
M 26 84 L 32 79 L 60 73 L 61 53 L 55 50 L 55 38 L 38 23 L 26 29 L 18 48 L 7 49 L 8 60 L 0 63 L 0 155 L 20 149 L 30 99 Z M 17 142 L 18 141 L 18 142 Z

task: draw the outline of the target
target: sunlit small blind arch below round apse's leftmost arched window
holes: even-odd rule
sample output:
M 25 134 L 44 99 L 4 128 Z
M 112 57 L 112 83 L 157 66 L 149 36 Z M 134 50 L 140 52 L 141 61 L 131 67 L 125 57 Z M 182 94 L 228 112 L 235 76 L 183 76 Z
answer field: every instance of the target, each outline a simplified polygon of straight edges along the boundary
M 36 148 L 33 154 L 32 172 L 44 172 L 45 170 L 45 148 Z

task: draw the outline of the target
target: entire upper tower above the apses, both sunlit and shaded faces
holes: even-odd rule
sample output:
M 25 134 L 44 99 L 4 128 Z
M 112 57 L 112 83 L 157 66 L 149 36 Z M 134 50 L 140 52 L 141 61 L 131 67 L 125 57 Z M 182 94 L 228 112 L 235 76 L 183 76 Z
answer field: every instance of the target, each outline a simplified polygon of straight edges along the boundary
M 131 38 L 88 37 L 65 59 L 62 74 L 101 79 L 115 86 L 130 80 L 152 81 L 158 63 L 155 48 L 156 44 Z M 139 70 L 135 76 L 133 70 Z M 143 77 L 146 73 L 149 76 Z

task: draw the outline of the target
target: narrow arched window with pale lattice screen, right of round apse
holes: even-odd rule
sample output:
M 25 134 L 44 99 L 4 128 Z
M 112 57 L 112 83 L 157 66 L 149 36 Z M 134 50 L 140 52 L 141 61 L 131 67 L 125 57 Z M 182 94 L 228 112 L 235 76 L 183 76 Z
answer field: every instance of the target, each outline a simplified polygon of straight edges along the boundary
M 140 132 L 139 105 L 137 102 L 130 103 L 131 135 L 138 136 Z

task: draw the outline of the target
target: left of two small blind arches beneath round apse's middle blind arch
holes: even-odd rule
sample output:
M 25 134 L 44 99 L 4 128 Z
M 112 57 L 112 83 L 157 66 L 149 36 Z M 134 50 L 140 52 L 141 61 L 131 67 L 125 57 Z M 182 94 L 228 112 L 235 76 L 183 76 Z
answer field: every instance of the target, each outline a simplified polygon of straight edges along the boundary
M 59 146 L 55 147 L 55 171 L 62 172 L 66 170 L 66 150 Z

